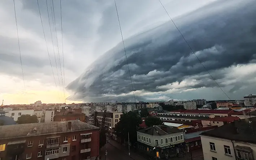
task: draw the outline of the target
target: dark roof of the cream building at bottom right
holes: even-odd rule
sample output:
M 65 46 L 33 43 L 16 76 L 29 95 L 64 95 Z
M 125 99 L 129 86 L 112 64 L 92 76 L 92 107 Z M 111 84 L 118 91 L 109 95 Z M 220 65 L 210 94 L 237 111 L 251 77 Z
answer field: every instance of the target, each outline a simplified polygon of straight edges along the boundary
M 256 144 L 256 117 L 236 120 L 201 135 Z

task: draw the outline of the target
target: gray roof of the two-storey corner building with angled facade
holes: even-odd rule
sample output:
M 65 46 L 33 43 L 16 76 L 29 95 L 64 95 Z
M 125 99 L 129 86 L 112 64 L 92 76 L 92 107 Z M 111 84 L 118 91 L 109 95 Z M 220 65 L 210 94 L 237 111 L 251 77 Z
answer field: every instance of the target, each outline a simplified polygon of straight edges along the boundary
M 183 130 L 177 129 L 176 127 L 170 127 L 168 125 L 161 124 L 161 125 L 153 125 L 151 127 L 141 129 L 137 132 L 150 134 L 152 136 L 162 136 L 166 134 L 183 132 Z

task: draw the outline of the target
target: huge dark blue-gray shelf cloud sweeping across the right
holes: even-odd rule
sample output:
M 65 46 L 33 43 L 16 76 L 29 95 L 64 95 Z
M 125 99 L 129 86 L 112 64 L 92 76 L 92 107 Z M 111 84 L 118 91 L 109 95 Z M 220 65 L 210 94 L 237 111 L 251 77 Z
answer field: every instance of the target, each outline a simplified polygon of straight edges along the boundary
M 231 99 L 256 89 L 255 8 L 252 0 L 221 0 L 174 19 Z M 136 100 L 227 99 L 172 22 L 125 39 L 125 46 Z M 67 89 L 74 93 L 71 100 L 132 101 L 122 43 L 96 59 Z

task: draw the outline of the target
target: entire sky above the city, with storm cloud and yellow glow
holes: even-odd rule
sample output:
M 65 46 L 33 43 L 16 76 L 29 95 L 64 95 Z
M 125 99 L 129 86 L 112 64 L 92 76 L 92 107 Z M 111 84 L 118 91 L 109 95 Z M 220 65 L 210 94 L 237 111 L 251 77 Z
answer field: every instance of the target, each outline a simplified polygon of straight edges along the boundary
M 256 93 L 253 0 L 161 2 L 230 99 Z M 136 101 L 228 99 L 158 0 L 116 3 Z M 13 1 L 0 1 L 4 104 L 134 101 L 114 1 L 61 0 L 60 14 L 59 0 L 39 0 L 47 45 L 37 2 L 15 5 L 24 82 Z

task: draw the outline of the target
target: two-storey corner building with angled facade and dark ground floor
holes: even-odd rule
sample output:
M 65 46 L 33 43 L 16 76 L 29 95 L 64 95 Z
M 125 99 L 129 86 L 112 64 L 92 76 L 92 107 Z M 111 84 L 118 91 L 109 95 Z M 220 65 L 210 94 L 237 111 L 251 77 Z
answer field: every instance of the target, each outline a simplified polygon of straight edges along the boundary
M 137 148 L 152 157 L 173 157 L 186 150 L 183 135 L 183 130 L 154 125 L 137 131 Z

